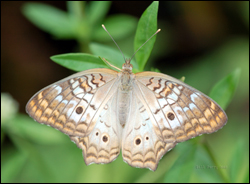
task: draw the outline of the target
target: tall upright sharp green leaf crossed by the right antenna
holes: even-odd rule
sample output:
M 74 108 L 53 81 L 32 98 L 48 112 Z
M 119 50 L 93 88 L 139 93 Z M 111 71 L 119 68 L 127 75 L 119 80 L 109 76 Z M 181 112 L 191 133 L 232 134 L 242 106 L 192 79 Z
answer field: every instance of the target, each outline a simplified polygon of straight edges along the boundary
M 154 1 L 142 14 L 134 40 L 134 51 L 142 46 L 152 36 L 157 29 L 157 12 L 158 1 Z M 135 58 L 139 65 L 139 70 L 143 71 L 150 53 L 153 49 L 156 36 L 153 36 L 143 47 L 136 53 Z

